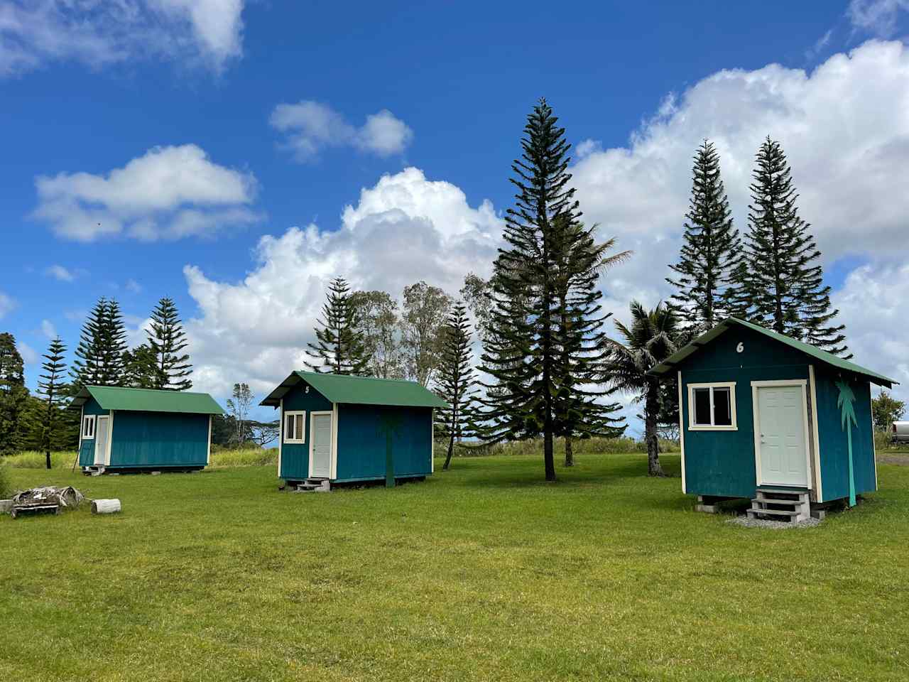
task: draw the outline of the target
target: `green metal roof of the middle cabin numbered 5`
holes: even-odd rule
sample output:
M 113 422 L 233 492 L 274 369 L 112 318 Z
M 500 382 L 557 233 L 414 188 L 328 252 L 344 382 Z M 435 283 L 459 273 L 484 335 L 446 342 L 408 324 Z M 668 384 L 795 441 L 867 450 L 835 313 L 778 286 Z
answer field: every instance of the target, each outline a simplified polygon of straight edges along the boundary
M 425 386 L 401 379 L 376 379 L 373 376 L 346 376 L 294 372 L 265 396 L 260 405 L 277 407 L 287 391 L 305 381 L 332 403 L 348 405 L 390 405 L 398 407 L 447 407 Z

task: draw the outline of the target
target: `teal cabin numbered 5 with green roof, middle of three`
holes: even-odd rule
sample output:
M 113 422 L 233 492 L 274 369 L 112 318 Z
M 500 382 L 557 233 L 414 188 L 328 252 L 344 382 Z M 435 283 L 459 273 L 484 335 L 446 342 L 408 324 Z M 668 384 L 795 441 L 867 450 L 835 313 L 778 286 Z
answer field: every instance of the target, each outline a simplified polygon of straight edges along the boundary
M 433 473 L 433 410 L 414 381 L 294 372 L 261 403 L 280 410 L 278 477 L 290 484 L 422 479 Z

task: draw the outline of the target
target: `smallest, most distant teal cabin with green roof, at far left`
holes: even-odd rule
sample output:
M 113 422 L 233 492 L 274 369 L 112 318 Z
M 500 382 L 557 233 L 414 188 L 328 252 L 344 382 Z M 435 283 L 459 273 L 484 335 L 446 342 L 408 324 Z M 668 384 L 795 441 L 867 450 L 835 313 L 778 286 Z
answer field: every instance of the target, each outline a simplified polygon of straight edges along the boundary
M 85 473 L 201 469 L 211 459 L 212 416 L 224 414 L 207 393 L 120 386 L 85 386 L 70 409 L 82 415 Z

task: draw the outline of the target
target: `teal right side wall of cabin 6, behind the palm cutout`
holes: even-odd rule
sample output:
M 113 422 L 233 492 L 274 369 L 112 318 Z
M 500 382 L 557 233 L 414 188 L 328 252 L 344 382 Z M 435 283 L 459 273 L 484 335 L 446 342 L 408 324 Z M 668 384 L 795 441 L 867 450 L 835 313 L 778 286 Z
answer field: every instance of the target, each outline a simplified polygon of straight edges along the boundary
M 822 500 L 849 496 L 849 441 L 843 429 L 840 407 L 837 405 L 839 388 L 836 382 L 844 378 L 833 368 L 815 366 L 817 391 L 817 426 L 821 441 L 821 492 Z M 855 492 L 874 492 L 874 433 L 871 426 L 871 391 L 868 381 L 850 376 L 855 402 L 853 426 L 853 470 Z

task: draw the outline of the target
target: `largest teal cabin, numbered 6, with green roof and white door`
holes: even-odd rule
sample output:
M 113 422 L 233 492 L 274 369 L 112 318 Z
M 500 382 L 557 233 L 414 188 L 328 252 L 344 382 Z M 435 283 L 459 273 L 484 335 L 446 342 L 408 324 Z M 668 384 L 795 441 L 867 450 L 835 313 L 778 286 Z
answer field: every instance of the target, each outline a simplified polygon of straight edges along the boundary
M 650 373 L 678 380 L 685 493 L 814 508 L 877 489 L 871 386 L 893 379 L 734 317 Z

